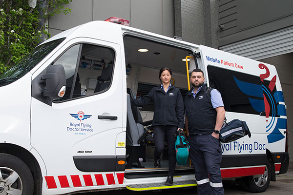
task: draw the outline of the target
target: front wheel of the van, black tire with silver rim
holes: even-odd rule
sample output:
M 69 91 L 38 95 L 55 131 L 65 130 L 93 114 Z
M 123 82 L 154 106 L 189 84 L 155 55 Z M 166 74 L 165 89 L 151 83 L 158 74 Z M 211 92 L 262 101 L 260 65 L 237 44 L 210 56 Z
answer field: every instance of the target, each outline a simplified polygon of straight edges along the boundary
M 5 184 L 12 185 L 6 186 Z M 7 194 L 11 191 L 12 195 L 33 195 L 34 179 L 31 171 L 21 159 L 0 153 L 0 193 L 3 191 Z

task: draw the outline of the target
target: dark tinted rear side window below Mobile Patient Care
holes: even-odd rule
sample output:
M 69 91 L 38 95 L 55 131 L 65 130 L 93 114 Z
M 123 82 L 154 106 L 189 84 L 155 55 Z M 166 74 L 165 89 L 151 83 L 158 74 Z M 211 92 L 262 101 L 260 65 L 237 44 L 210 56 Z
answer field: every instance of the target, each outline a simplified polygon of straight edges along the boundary
M 260 78 L 208 66 L 209 86 L 217 89 L 228 112 L 259 115 L 265 111 Z

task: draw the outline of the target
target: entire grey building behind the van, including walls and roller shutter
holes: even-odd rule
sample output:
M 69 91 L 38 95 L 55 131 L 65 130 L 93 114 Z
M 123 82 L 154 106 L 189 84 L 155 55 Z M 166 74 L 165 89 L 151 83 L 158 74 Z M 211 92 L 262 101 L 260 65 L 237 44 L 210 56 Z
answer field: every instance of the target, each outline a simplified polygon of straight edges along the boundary
M 89 21 L 119 17 L 135 28 L 275 65 L 288 130 L 293 131 L 292 0 L 72 0 L 67 7 L 68 15 L 48 20 L 51 36 Z M 293 156 L 292 146 L 289 155 Z

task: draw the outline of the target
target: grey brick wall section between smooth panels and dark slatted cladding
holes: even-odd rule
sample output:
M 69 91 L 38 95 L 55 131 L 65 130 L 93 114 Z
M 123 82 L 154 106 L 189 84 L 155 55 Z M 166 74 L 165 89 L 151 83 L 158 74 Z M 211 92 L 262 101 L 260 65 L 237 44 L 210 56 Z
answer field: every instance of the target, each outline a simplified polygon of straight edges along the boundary
M 174 0 L 175 35 L 218 48 L 217 0 Z

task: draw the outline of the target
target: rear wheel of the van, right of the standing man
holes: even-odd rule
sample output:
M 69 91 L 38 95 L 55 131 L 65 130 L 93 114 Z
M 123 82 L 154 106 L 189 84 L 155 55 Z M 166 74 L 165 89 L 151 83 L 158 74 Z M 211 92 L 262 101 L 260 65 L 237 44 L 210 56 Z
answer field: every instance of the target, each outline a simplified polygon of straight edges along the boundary
M 264 192 L 267 190 L 267 188 L 270 185 L 271 174 L 272 174 L 272 168 L 269 161 L 267 161 L 264 174 L 242 177 L 241 185 L 244 190 L 249 192 L 253 192 L 253 193 Z

